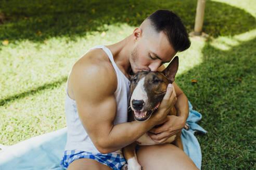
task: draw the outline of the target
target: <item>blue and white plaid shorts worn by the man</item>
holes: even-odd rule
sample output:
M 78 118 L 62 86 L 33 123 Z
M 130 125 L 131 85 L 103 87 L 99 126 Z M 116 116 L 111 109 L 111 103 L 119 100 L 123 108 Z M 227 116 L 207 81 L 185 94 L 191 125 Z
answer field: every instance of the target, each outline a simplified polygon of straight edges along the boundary
M 61 160 L 60 166 L 68 167 L 71 162 L 80 158 L 89 158 L 96 160 L 102 164 L 111 167 L 114 170 L 119 170 L 126 163 L 122 154 L 117 153 L 92 153 L 79 150 L 66 150 Z

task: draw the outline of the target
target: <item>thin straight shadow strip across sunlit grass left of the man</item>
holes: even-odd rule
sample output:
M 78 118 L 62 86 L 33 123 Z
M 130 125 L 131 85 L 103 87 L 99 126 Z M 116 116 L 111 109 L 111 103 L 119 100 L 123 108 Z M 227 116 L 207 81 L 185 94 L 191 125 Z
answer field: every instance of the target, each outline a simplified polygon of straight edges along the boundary
M 9 102 L 13 102 L 15 100 L 19 100 L 19 99 L 27 97 L 29 95 L 39 93 L 39 92 L 41 92 L 43 90 L 46 90 L 46 89 L 53 89 L 53 88 L 59 87 L 59 86 L 61 86 L 61 84 L 63 82 L 67 82 L 67 79 L 68 79 L 68 77 L 65 76 L 65 77 L 62 77 L 62 78 L 60 78 L 59 80 L 57 80 L 55 82 L 45 83 L 42 86 L 37 87 L 33 90 L 29 90 L 29 91 L 26 91 L 26 92 L 23 92 L 23 93 L 20 93 L 20 94 L 15 94 L 15 95 L 9 96 L 9 97 L 4 98 L 4 99 L 0 99 L 0 106 L 4 106 Z

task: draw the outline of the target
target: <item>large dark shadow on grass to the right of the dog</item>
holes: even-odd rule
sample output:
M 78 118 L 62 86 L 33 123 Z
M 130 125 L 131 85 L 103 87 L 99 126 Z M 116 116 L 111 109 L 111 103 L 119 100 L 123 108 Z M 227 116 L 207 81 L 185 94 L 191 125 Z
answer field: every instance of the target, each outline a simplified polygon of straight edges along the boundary
M 197 135 L 202 169 L 250 169 L 255 151 L 256 38 L 226 51 L 207 43 L 202 53 L 200 65 L 176 78 L 208 131 Z M 194 86 L 193 79 L 198 82 Z

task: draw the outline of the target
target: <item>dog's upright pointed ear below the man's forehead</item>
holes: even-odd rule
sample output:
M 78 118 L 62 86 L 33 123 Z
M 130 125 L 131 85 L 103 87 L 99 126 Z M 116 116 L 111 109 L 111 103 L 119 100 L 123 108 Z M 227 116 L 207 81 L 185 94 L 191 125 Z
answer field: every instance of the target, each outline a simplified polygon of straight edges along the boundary
M 168 65 L 167 68 L 163 70 L 163 74 L 173 83 L 175 80 L 175 75 L 178 70 L 178 56 L 172 60 L 172 62 Z

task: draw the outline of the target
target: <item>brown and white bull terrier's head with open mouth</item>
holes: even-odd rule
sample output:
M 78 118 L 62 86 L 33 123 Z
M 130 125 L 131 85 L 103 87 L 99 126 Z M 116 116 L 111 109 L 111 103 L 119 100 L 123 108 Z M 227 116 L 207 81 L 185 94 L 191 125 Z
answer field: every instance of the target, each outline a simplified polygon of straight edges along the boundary
M 137 121 L 145 121 L 159 107 L 178 70 L 178 56 L 163 72 L 139 72 L 132 77 L 130 106 Z

